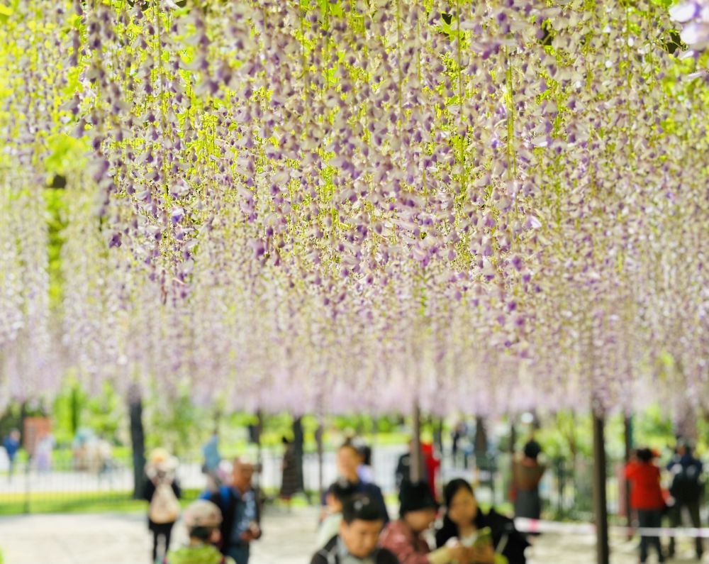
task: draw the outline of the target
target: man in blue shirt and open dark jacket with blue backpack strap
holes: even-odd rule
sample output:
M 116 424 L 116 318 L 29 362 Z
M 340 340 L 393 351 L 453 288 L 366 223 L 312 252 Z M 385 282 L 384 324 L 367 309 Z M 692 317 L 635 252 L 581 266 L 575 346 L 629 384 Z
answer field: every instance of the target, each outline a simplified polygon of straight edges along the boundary
M 216 492 L 204 492 L 201 499 L 208 499 L 220 509 L 220 551 L 230 556 L 236 564 L 248 564 L 252 541 L 261 538 L 261 514 L 258 492 L 252 487 L 254 466 L 245 459 L 234 460 L 231 485 L 220 486 Z

